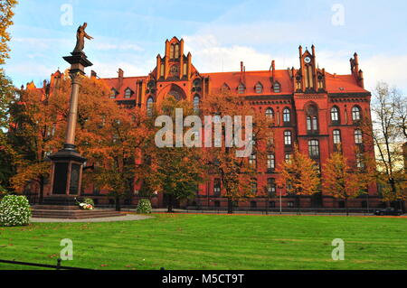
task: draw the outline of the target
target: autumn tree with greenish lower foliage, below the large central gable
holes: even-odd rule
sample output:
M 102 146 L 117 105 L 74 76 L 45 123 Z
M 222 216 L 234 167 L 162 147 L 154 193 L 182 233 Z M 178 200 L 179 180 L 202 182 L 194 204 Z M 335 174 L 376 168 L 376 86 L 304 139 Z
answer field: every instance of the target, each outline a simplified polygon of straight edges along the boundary
M 192 116 L 194 111 L 189 102 L 185 100 L 176 101 L 172 97 L 166 98 L 162 105 L 156 107 L 156 115 L 168 116 L 166 119 L 170 120 L 170 123 L 175 123 L 177 113 L 182 113 L 180 120 L 184 123 L 185 117 Z M 155 122 L 156 120 L 151 117 L 150 121 Z M 164 193 L 168 203 L 167 211 L 173 212 L 175 200 L 186 200 L 194 197 L 199 183 L 203 181 L 203 170 L 201 163 L 202 149 L 185 144 L 177 146 L 175 141 L 178 136 L 170 123 L 166 123 L 163 128 L 159 129 L 161 131 L 165 129 L 166 133 L 163 137 L 161 135 L 157 136 L 158 129 L 155 129 L 155 133 L 149 137 L 149 142 L 144 150 L 143 180 L 144 185 L 147 185 L 152 190 Z M 162 124 L 159 121 L 156 123 L 156 125 Z M 182 135 L 187 130 L 182 127 Z M 190 139 L 193 140 L 194 137 L 197 137 L 197 135 L 190 136 Z M 166 145 L 159 145 L 156 140 L 165 141 Z

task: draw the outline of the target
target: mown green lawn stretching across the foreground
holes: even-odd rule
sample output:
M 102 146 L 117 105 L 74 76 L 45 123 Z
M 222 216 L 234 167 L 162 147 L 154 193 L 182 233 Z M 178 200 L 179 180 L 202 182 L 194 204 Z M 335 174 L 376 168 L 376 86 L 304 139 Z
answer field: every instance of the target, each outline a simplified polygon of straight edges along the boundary
M 96 269 L 407 269 L 407 218 L 165 215 L 0 228 L 0 259 Z M 333 261 L 334 238 L 345 260 Z M 27 269 L 0 264 L 0 269 Z

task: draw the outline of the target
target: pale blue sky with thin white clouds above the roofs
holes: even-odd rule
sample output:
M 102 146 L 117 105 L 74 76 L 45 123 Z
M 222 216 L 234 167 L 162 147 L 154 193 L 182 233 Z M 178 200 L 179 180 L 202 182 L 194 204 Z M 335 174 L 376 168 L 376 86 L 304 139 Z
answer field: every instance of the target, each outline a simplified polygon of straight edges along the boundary
M 407 1 L 20 2 L 5 65 L 16 86 L 39 85 L 65 70 L 62 56 L 73 50 L 76 29 L 86 21 L 95 39 L 85 51 L 100 77 L 116 77 L 118 68 L 125 76 L 147 75 L 166 39 L 177 36 L 201 72 L 239 70 L 240 60 L 246 70 L 268 70 L 271 60 L 277 69 L 298 67 L 298 45 L 314 43 L 320 68 L 347 74 L 357 51 L 366 88 L 384 80 L 407 91 Z

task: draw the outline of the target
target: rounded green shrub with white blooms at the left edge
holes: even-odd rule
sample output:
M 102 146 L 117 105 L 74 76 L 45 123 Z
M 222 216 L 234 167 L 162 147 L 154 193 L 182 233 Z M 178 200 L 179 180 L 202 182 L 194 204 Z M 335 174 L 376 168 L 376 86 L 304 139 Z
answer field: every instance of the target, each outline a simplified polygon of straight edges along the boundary
M 22 226 L 30 223 L 31 209 L 25 196 L 6 195 L 0 203 L 0 225 Z

